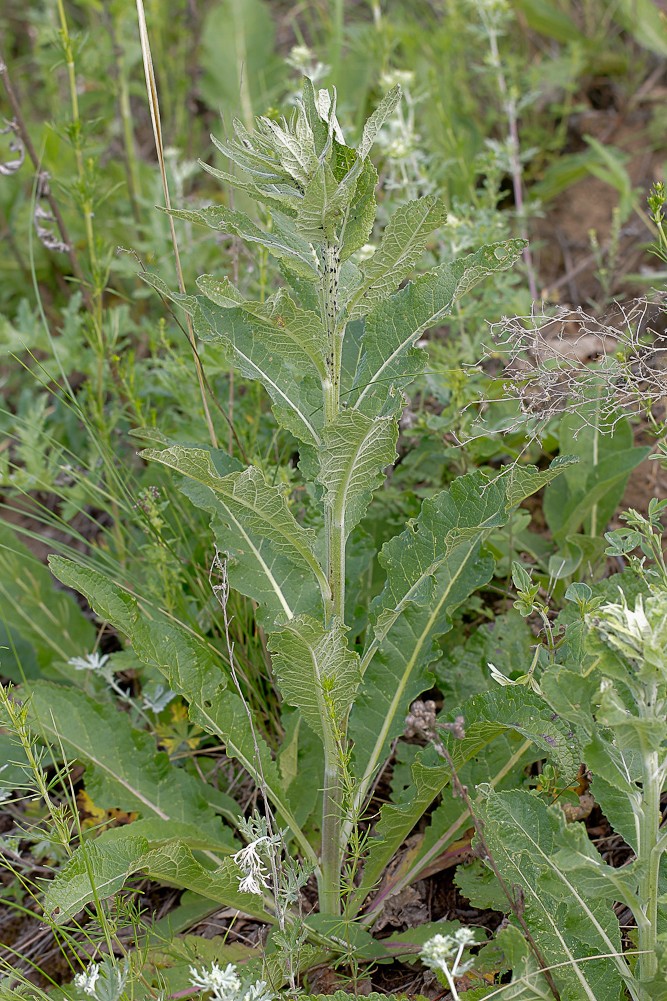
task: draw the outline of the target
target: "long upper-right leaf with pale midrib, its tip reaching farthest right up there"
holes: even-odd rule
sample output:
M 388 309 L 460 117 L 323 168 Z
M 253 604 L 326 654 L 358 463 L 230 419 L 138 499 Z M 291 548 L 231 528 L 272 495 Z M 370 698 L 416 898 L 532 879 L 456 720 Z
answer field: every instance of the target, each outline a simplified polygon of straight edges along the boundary
M 524 246 L 523 240 L 490 244 L 421 275 L 376 306 L 366 319 L 365 355 L 351 398 L 355 408 L 375 416 L 388 402 L 399 407 L 396 387 L 407 385 L 426 364 L 426 352 L 414 346 L 419 337 L 483 278 L 511 267 Z

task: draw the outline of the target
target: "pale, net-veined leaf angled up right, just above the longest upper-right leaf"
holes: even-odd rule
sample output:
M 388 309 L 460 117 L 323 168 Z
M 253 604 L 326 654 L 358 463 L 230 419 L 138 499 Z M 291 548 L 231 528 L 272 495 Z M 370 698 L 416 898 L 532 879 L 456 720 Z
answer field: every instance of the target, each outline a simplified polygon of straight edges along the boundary
M 362 283 L 348 305 L 351 319 L 365 316 L 399 287 L 424 253 L 431 233 L 447 212 L 436 195 L 409 201 L 388 222 L 380 246 L 361 266 Z

